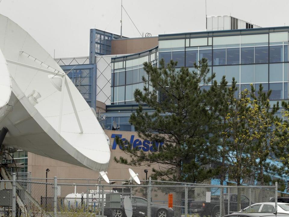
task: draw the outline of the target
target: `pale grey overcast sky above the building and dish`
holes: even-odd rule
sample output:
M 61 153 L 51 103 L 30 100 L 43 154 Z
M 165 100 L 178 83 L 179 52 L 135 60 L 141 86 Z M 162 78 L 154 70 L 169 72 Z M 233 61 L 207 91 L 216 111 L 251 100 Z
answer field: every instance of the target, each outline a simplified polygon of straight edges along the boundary
M 121 0 L 0 0 L 0 13 L 19 24 L 55 58 L 89 55 L 89 29 L 120 34 Z M 289 0 L 207 0 L 207 16 L 232 15 L 261 27 L 289 25 Z M 157 36 L 205 30 L 205 0 L 123 0 L 138 30 Z M 123 10 L 123 36 L 139 37 Z

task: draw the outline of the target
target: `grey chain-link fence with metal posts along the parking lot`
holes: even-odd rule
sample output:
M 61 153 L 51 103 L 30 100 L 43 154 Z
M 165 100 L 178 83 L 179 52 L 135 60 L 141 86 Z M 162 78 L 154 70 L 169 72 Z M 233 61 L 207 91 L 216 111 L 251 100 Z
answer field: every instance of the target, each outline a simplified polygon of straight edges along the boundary
M 0 182 L 2 216 L 219 217 L 255 203 L 275 206 L 276 186 L 219 186 L 162 181 L 18 178 Z M 15 191 L 15 193 L 13 193 Z M 272 201 L 272 202 L 271 202 Z M 267 207 L 268 208 L 268 207 Z

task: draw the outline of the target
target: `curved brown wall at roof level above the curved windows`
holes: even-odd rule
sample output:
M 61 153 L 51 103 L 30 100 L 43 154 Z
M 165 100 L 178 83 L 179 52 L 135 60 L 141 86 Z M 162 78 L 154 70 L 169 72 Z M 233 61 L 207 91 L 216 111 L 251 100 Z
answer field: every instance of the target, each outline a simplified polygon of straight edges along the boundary
M 158 46 L 158 37 L 115 39 L 111 41 L 111 54 L 134 54 Z

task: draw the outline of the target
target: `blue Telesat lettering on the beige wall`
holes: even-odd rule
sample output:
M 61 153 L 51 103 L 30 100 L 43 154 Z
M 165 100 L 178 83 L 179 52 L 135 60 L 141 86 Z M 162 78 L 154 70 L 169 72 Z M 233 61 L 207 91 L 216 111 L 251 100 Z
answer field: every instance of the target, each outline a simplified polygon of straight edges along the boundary
M 116 137 L 119 137 L 123 142 L 126 140 L 129 141 L 130 144 L 132 144 L 133 148 L 138 148 L 138 150 L 143 150 L 144 152 L 151 151 L 151 152 L 156 152 L 159 149 L 159 146 L 161 147 L 163 145 L 163 142 L 156 142 L 156 141 L 149 141 L 149 140 L 144 140 L 141 141 L 139 139 L 134 140 L 135 136 L 131 135 L 130 140 L 126 138 L 122 138 L 122 134 L 111 134 L 111 138 L 113 138 L 113 144 L 112 144 L 112 149 L 117 148 L 117 141 L 115 140 Z M 154 146 L 155 145 L 155 146 Z M 121 146 L 119 146 L 120 149 L 122 149 Z

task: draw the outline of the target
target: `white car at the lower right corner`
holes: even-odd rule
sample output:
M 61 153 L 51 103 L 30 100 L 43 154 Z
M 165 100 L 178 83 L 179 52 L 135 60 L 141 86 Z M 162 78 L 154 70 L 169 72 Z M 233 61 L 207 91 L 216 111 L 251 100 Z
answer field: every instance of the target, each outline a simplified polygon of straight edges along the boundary
M 289 214 L 289 203 L 277 203 L 277 212 Z M 254 203 L 251 207 L 242 209 L 241 212 L 275 212 L 275 202 Z

